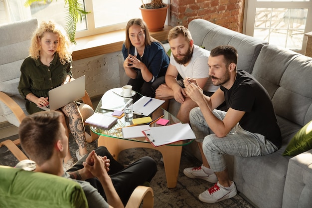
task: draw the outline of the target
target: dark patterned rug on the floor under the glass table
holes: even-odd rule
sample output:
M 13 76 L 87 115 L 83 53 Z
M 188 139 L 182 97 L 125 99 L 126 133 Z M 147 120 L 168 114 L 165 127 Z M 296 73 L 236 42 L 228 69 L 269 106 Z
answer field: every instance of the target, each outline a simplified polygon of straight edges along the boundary
M 89 129 L 86 129 L 89 132 Z M 17 135 L 6 138 L 16 139 Z M 75 157 L 75 151 L 78 148 L 72 135 L 69 138 L 70 152 Z M 87 150 L 90 152 L 97 147 L 97 141 L 87 143 Z M 119 162 L 127 165 L 143 156 L 152 157 L 157 163 L 157 173 L 151 182 L 151 187 L 154 191 L 154 207 L 155 208 L 253 208 L 241 196 L 237 195 L 234 198 L 221 201 L 215 204 L 202 203 L 198 200 L 198 195 L 214 184 L 204 180 L 189 179 L 183 174 L 183 169 L 200 166 L 200 162 L 186 151 L 182 151 L 181 163 L 178 175 L 177 185 L 173 189 L 168 189 L 165 179 L 164 166 L 160 161 L 160 152 L 148 148 L 133 148 L 125 150 L 119 155 Z M 7 150 L 6 147 L 0 148 L 0 165 L 14 167 L 18 161 Z

